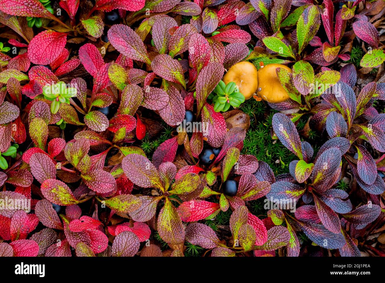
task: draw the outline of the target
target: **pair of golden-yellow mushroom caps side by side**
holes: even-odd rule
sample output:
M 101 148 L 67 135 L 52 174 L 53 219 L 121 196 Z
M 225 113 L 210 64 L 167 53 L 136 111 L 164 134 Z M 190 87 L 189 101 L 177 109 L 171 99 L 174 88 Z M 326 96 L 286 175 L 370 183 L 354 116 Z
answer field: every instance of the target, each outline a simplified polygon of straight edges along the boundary
M 276 74 L 276 68 L 283 68 L 291 72 L 291 69 L 281 64 L 269 64 L 258 71 L 250 62 L 238 62 L 233 65 L 223 77 L 223 82 L 235 82 L 239 92 L 249 99 L 258 95 L 263 100 L 271 103 L 279 103 L 289 99 L 286 90 L 282 87 Z M 254 97 L 258 100 L 258 97 Z M 260 99 L 259 99 L 260 100 Z

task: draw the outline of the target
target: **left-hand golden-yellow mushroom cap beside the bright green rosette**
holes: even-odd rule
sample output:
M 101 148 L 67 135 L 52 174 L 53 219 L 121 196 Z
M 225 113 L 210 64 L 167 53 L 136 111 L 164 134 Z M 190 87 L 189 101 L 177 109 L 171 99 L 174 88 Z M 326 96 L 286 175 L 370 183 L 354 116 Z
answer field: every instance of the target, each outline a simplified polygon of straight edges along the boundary
M 223 82 L 235 82 L 244 99 L 249 99 L 258 89 L 258 71 L 250 62 L 238 62 L 223 77 Z

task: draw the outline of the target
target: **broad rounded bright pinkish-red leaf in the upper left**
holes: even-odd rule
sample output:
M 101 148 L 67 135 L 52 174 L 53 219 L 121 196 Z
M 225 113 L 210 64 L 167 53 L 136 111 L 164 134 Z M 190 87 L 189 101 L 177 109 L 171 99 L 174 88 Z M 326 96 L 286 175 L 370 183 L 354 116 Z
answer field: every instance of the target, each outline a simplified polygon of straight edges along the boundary
M 67 42 L 67 34 L 45 30 L 33 37 L 28 45 L 28 58 L 33 64 L 47 65 L 59 57 Z

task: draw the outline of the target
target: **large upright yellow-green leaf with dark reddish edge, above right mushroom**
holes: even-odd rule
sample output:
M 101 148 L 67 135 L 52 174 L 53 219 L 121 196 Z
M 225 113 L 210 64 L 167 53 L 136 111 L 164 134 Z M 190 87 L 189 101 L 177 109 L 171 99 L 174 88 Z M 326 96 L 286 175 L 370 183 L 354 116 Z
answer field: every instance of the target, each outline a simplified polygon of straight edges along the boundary
M 320 12 L 315 5 L 311 5 L 303 11 L 297 23 L 298 53 L 308 45 L 320 28 Z

